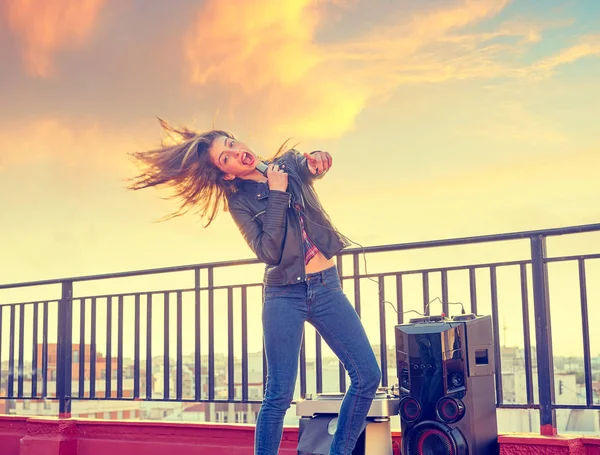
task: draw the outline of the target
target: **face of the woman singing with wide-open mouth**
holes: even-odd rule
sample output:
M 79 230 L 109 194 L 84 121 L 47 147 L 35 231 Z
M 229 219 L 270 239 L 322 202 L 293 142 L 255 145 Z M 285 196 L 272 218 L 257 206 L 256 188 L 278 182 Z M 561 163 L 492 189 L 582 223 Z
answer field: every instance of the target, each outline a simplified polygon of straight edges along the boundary
M 210 160 L 225 173 L 226 180 L 235 177 L 248 179 L 260 174 L 256 169 L 257 157 L 246 144 L 227 136 L 214 140 L 209 151 Z

